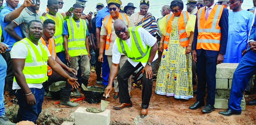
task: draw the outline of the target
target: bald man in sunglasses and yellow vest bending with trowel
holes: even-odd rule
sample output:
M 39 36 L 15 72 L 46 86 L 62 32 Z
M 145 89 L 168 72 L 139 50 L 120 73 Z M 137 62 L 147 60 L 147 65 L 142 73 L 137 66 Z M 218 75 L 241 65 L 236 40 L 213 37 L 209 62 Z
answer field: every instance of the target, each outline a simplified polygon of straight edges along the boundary
M 152 75 L 158 58 L 157 39 L 141 26 L 129 27 L 120 19 L 114 23 L 117 39 L 113 46 L 113 58 L 110 68 L 109 84 L 105 89 L 105 96 L 112 90 L 112 83 L 117 75 L 119 83 L 119 102 L 114 109 L 132 107 L 128 91 L 128 78 L 135 70 L 143 66 L 143 89 L 141 103 L 141 117 L 148 114 L 148 106 L 152 95 Z M 122 68 L 118 71 L 121 53 L 128 57 Z M 117 73 L 118 71 L 118 73 Z

